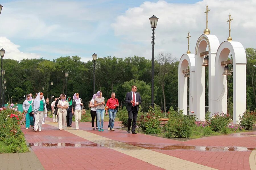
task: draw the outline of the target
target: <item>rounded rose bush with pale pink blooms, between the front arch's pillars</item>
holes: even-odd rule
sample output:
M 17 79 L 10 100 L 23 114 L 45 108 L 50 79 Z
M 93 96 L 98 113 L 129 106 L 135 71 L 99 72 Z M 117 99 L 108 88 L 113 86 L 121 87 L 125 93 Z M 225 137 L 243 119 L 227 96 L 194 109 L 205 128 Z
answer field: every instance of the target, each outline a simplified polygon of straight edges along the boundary
M 220 132 L 223 128 L 228 126 L 228 119 L 228 114 L 224 114 L 223 112 L 221 114 L 215 113 L 207 120 L 207 123 L 213 131 Z

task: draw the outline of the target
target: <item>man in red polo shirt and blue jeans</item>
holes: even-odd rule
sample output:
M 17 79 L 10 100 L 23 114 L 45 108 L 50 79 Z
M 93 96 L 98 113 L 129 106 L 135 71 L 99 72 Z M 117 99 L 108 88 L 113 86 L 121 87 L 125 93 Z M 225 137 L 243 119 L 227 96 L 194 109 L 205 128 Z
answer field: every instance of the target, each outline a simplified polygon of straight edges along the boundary
M 115 116 L 116 116 L 116 107 L 119 106 L 118 100 L 115 98 L 115 93 L 111 93 L 111 98 L 107 101 L 108 106 L 108 115 L 109 115 L 109 123 L 108 123 L 108 130 L 114 131 L 114 123 L 115 123 Z

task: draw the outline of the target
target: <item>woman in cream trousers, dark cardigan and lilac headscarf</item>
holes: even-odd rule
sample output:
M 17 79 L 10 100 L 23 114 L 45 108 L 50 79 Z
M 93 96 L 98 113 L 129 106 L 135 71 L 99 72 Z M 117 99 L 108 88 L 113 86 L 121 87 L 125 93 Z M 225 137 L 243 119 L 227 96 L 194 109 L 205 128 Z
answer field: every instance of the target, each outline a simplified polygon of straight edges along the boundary
M 75 115 L 76 129 L 79 130 L 79 122 L 82 116 L 82 99 L 79 98 L 79 93 L 75 93 L 72 101 L 72 114 Z

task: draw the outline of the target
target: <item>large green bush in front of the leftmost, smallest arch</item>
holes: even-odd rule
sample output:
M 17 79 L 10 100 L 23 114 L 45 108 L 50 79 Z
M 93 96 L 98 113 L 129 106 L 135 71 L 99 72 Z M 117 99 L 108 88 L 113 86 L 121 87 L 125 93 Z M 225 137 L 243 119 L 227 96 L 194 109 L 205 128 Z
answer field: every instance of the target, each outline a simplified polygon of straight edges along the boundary
M 183 111 L 174 111 L 171 107 L 169 109 L 169 120 L 164 125 L 164 129 L 170 133 L 173 133 L 177 137 L 189 138 L 193 128 L 195 128 L 195 116 L 187 116 L 183 114 Z

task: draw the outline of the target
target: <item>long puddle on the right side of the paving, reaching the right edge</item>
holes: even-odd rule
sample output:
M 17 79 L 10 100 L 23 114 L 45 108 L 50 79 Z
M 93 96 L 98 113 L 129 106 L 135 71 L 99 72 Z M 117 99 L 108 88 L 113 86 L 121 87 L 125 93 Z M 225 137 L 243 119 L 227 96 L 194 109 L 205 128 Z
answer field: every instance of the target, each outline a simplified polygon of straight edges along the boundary
M 247 151 L 253 150 L 254 148 L 246 148 L 240 146 L 230 146 L 230 147 L 223 147 L 223 146 L 188 146 L 188 145 L 145 145 L 139 143 L 127 143 L 134 146 L 139 146 L 145 149 L 156 149 L 156 150 L 178 150 L 178 149 L 185 149 L 185 150 L 200 150 L 200 151 Z

